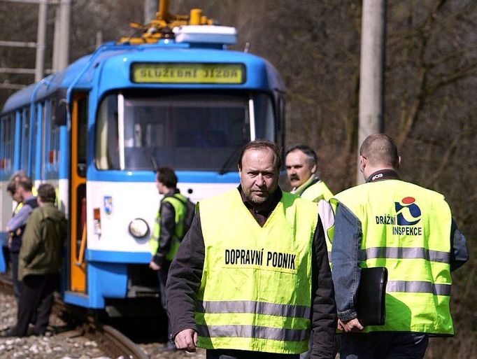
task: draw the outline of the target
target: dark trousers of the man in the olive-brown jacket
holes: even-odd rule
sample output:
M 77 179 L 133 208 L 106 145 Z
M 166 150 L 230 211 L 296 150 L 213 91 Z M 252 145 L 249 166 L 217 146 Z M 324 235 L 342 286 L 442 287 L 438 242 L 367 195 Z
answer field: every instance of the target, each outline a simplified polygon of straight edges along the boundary
M 53 305 L 53 293 L 59 281 L 58 274 L 25 276 L 22 283 L 22 297 L 18 308 L 17 337 L 27 335 L 28 325 L 35 320 L 34 334 L 44 335 Z

